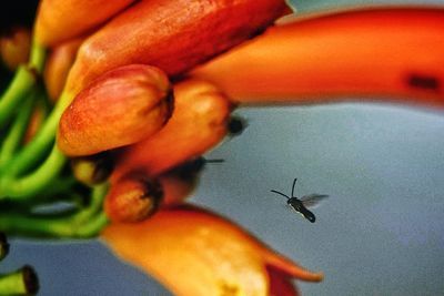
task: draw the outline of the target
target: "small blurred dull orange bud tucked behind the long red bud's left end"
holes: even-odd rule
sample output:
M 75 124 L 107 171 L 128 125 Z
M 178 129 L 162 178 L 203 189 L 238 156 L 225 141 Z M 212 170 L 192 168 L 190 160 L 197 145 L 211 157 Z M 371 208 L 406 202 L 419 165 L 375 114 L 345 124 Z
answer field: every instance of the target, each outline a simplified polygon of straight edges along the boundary
M 52 102 L 62 93 L 68 73 L 74 63 L 77 51 L 83 39 L 78 38 L 61 43 L 49 53 L 43 70 L 44 85 Z

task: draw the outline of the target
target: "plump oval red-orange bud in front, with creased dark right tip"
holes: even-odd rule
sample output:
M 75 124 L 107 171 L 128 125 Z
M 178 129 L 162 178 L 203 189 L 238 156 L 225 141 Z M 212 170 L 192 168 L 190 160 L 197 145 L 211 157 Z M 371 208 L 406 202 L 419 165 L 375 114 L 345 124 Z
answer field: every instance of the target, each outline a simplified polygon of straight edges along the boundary
M 61 116 L 58 145 L 70 156 L 139 142 L 171 113 L 171 91 L 159 69 L 132 64 L 111 70 L 81 91 Z

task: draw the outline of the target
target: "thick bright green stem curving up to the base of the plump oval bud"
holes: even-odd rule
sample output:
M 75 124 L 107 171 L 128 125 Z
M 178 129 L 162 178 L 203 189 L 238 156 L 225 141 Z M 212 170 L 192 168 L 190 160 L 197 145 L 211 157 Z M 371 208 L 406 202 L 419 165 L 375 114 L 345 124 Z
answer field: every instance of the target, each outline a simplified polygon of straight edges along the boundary
M 3 175 L 0 180 L 0 201 L 6 197 L 14 201 L 32 198 L 57 178 L 65 161 L 54 144 L 48 159 L 34 172 L 21 177 Z

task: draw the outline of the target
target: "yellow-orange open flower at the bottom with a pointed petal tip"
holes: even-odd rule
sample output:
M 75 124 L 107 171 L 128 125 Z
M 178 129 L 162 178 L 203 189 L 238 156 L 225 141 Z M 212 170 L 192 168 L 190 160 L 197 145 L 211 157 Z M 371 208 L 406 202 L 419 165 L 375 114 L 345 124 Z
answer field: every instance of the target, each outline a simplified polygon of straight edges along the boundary
M 273 252 L 234 223 L 196 207 L 163 210 L 138 224 L 111 224 L 102 237 L 120 257 L 179 296 L 266 296 L 292 292 L 290 278 L 319 282 L 323 277 Z

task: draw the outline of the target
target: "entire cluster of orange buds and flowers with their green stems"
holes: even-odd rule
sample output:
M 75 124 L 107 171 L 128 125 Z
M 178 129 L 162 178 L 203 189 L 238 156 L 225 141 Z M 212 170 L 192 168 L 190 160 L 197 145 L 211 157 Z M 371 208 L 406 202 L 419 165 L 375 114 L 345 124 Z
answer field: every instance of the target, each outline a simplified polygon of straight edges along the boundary
M 201 155 L 241 132 L 242 103 L 377 94 L 442 106 L 444 10 L 276 22 L 290 11 L 283 0 L 42 0 L 32 37 L 0 40 L 17 69 L 0 98 L 0 231 L 102 235 L 178 295 L 296 295 L 290 278 L 321 280 L 183 205 Z M 69 208 L 52 212 L 58 201 Z

